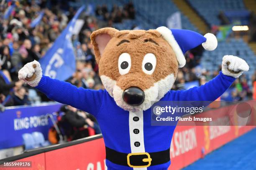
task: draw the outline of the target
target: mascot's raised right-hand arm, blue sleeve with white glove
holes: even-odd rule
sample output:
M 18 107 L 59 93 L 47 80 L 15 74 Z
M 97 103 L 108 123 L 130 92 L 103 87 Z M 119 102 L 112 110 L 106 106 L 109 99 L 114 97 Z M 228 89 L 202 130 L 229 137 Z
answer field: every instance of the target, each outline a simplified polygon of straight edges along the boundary
M 245 60 L 233 55 L 225 55 L 222 61 L 222 71 L 214 79 L 200 87 L 171 91 L 170 95 L 176 101 L 214 101 L 232 85 L 237 77 L 248 70 L 249 66 Z

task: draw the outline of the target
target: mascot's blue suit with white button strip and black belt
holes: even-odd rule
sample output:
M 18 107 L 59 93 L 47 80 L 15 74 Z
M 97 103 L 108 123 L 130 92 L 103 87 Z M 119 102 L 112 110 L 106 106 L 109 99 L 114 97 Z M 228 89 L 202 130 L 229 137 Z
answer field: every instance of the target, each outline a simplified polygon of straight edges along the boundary
M 205 85 L 169 90 L 160 101 L 214 101 L 234 80 L 220 71 Z M 108 170 L 166 170 L 171 164 L 169 148 L 175 126 L 151 126 L 151 108 L 128 112 L 116 105 L 106 90 L 77 88 L 44 75 L 36 88 L 52 100 L 96 117 L 106 146 Z

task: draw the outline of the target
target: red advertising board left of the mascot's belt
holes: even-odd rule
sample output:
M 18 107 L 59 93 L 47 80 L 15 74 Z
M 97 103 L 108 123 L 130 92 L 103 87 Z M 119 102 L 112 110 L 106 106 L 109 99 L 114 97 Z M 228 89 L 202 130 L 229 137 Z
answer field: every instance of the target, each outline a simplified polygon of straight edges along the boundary
M 104 170 L 102 138 L 45 153 L 46 170 Z

